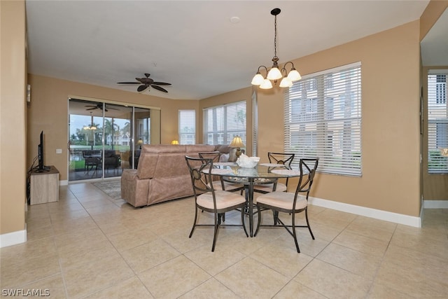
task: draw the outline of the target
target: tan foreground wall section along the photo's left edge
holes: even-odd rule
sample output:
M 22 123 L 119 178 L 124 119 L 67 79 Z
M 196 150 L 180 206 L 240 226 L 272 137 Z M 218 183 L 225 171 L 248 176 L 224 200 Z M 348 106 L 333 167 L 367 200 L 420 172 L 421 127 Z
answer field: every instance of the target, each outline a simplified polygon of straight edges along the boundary
M 25 230 L 25 1 L 0 1 L 0 234 Z

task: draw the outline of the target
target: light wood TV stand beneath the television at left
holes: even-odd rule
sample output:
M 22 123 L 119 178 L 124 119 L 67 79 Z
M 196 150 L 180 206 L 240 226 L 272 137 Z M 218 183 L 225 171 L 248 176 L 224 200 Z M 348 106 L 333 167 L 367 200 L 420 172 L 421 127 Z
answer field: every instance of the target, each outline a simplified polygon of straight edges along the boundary
M 59 200 L 59 171 L 45 166 L 44 171 L 33 169 L 30 177 L 29 204 L 43 204 Z

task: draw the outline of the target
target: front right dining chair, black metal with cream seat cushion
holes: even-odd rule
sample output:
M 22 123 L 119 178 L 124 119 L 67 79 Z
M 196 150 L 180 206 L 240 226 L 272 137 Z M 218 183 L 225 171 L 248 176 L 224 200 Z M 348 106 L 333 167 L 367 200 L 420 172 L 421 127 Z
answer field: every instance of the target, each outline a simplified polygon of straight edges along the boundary
M 295 232 L 295 228 L 308 228 L 311 237 L 314 239 L 314 235 L 308 221 L 308 196 L 316 174 L 318 160 L 318 158 L 300 159 L 300 177 L 295 193 L 275 191 L 260 195 L 257 198 L 258 226 L 255 230 L 254 236 L 258 234 L 260 227 L 283 226 L 283 228 L 286 228 L 289 234 L 293 236 L 295 248 L 298 253 L 300 253 L 300 249 L 299 244 L 297 243 L 297 233 Z M 274 215 L 273 225 L 261 224 L 261 211 L 265 209 L 272 210 L 272 214 Z M 305 212 L 306 225 L 297 225 L 295 223 L 295 214 L 302 211 Z M 281 221 L 279 218 L 279 212 L 288 213 L 291 215 L 290 225 Z

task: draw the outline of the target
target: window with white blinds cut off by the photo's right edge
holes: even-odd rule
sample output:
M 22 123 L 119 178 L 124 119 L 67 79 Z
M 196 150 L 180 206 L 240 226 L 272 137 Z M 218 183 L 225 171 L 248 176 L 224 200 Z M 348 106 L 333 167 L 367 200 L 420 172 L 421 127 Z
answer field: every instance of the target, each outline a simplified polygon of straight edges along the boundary
M 428 72 L 428 172 L 448 173 L 448 158 L 440 153 L 448 148 L 447 116 L 447 75 L 448 70 Z

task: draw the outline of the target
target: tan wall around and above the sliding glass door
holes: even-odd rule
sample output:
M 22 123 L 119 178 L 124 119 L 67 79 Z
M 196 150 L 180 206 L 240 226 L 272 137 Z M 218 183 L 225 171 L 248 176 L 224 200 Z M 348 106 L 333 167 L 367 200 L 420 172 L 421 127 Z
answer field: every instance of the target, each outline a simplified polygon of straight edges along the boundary
M 38 138 L 43 130 L 45 165 L 55 165 L 61 180 L 67 179 L 69 96 L 160 107 L 162 144 L 169 144 L 178 138 L 179 109 L 198 107 L 197 101 L 193 100 L 165 99 L 146 93 L 126 92 L 32 74 L 29 74 L 28 82 L 31 85 L 31 104 L 28 106 L 27 166 L 31 166 L 37 155 Z M 62 148 L 62 154 L 56 154 L 56 148 Z

